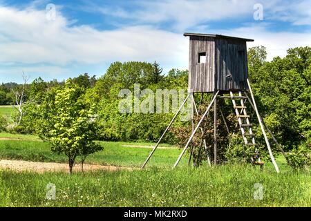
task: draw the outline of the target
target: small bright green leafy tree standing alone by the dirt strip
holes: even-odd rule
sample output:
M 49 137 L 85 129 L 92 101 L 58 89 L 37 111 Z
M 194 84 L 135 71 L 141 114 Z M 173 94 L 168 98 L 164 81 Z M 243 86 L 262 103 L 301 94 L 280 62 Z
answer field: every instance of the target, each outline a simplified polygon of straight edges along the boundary
M 40 137 L 52 145 L 52 151 L 68 157 L 70 173 L 78 156 L 84 162 L 86 156 L 102 150 L 95 143 L 96 127 L 93 107 L 82 99 L 84 88 L 72 80 L 64 88 L 48 93 L 41 105 Z

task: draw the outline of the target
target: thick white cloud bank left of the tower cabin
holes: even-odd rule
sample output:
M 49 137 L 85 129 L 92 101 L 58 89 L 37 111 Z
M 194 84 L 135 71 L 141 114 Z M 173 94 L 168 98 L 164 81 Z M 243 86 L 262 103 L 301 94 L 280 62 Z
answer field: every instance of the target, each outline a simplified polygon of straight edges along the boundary
M 0 62 L 98 64 L 104 61 L 178 61 L 187 41 L 150 26 L 100 31 L 68 26 L 62 14 L 47 21 L 44 11 L 0 8 Z

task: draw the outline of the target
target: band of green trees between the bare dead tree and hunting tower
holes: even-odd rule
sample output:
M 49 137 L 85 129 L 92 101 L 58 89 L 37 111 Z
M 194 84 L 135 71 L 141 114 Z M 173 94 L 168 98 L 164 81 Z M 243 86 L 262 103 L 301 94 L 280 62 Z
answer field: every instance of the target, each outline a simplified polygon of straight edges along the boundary
M 131 61 L 111 64 L 106 74 L 98 79 L 84 74 L 68 81 L 83 90 L 82 99 L 88 106 L 95 105 L 98 140 L 155 141 L 173 114 L 120 113 L 118 106 L 122 97 L 119 97 L 119 92 L 124 88 L 133 91 L 134 84 L 139 84 L 140 90 L 184 89 L 187 93 L 187 77 L 188 72 L 184 70 L 172 69 L 164 75 L 156 62 Z M 23 119 L 14 130 L 18 133 L 37 133 L 38 106 L 48 102 L 46 99 L 50 93 L 65 87 L 64 82 L 51 87 L 41 78 L 35 79 L 26 92 L 29 97 L 24 104 Z M 172 140 L 173 136 L 168 135 L 166 141 Z

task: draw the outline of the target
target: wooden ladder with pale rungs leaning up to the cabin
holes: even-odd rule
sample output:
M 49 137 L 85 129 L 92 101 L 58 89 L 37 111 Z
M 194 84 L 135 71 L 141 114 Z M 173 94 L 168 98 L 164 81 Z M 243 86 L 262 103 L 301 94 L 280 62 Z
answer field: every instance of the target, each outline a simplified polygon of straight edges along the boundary
M 254 146 L 254 155 L 251 158 L 252 163 L 254 165 L 261 166 L 262 169 L 264 162 L 261 161 L 260 153 L 258 152 L 257 148 L 258 144 L 256 144 L 255 134 L 252 130 L 252 124 L 249 121 L 249 115 L 247 115 L 246 111 L 246 100 L 244 101 L 244 99 L 247 99 L 247 97 L 242 96 L 241 91 L 238 92 L 238 95 L 234 95 L 234 93 L 230 91 L 230 97 L 232 99 L 232 104 L 236 113 L 236 117 L 238 117 L 238 125 L 241 128 L 244 143 L 247 146 Z M 240 104 L 236 104 L 237 100 L 240 101 Z

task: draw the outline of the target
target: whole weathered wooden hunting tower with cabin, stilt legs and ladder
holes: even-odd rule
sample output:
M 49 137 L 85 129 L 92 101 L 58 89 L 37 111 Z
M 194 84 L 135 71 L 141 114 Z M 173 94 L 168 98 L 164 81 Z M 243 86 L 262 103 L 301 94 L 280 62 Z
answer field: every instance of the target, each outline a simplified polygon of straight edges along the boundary
M 225 124 L 227 128 L 228 136 L 232 134 L 230 132 L 229 126 L 226 122 L 226 117 L 223 115 L 221 111 L 221 106 L 225 104 L 225 102 L 220 102 L 218 104 L 219 99 L 231 99 L 232 100 L 232 108 L 236 115 L 236 128 L 240 128 L 241 135 L 243 137 L 243 141 L 245 146 L 251 146 L 254 149 L 254 153 L 249 160 L 251 160 L 252 164 L 263 166 L 264 162 L 261 161 L 261 153 L 258 151 L 258 144 L 255 140 L 255 133 L 252 128 L 252 123 L 250 121 L 250 115 L 248 114 L 247 105 L 249 104 L 254 109 L 259 125 L 261 127 L 261 131 L 263 136 L 265 137 L 265 143 L 267 144 L 267 149 L 269 151 L 269 155 L 271 157 L 272 163 L 276 169 L 276 172 L 279 173 L 279 167 L 274 160 L 272 149 L 270 147 L 270 143 L 268 137 L 265 133 L 267 130 L 270 133 L 270 136 L 276 143 L 276 146 L 279 147 L 281 153 L 286 157 L 285 152 L 282 150 L 281 146 L 279 146 L 278 142 L 276 142 L 275 137 L 272 135 L 271 131 L 267 128 L 265 123 L 263 122 L 263 118 L 259 115 L 258 108 L 256 106 L 256 101 L 254 95 L 252 93 L 252 88 L 248 79 L 248 68 L 247 68 L 247 41 L 254 41 L 252 39 L 244 39 L 239 37 L 229 37 L 224 35 L 210 35 L 210 34 L 194 34 L 194 33 L 185 33 L 184 36 L 190 37 L 190 50 L 189 50 L 189 93 L 185 101 L 181 104 L 177 113 L 174 115 L 173 119 L 165 129 L 164 133 L 160 137 L 160 140 L 156 144 L 156 146 L 151 151 L 149 157 L 142 165 L 142 169 L 146 166 L 147 162 L 149 162 L 151 156 L 158 148 L 160 142 L 162 141 L 164 135 L 169 131 L 169 128 L 173 124 L 177 115 L 180 113 L 183 106 L 185 106 L 188 99 L 191 99 L 191 104 L 194 113 L 197 116 L 200 116 L 200 121 L 195 124 L 194 115 L 192 118 L 192 133 L 185 144 L 185 147 L 180 153 L 178 160 L 174 164 L 173 167 L 176 167 L 180 162 L 182 155 L 185 154 L 185 151 L 191 145 L 191 151 L 189 154 L 189 161 L 191 160 L 191 155 L 194 152 L 195 148 L 198 148 L 198 155 L 200 155 L 200 151 L 202 148 L 205 149 L 207 154 L 207 162 L 211 165 L 210 155 L 214 154 L 214 164 L 218 163 L 218 146 L 217 146 L 217 131 L 218 131 L 218 112 L 222 117 L 222 122 Z M 204 97 L 203 93 L 214 93 L 213 99 L 209 102 L 209 106 L 207 106 L 206 111 L 200 111 L 200 105 L 202 104 L 202 100 Z M 197 102 L 195 96 L 197 94 L 201 95 L 200 103 L 197 106 Z M 250 97 L 249 97 L 250 95 Z M 211 107 L 214 105 L 214 148 L 207 146 L 206 141 L 206 133 L 207 128 L 202 126 L 202 123 L 207 122 Z M 205 107 L 204 107 L 205 108 Z M 206 125 L 206 124 L 205 124 Z M 234 129 L 235 133 L 236 129 Z M 200 146 L 195 146 L 192 144 L 192 140 L 197 132 L 201 133 L 201 142 Z M 204 144 L 204 146 L 202 146 Z M 245 151 L 246 148 L 245 148 Z M 288 160 L 288 157 L 286 157 Z

